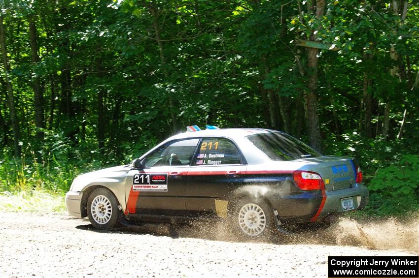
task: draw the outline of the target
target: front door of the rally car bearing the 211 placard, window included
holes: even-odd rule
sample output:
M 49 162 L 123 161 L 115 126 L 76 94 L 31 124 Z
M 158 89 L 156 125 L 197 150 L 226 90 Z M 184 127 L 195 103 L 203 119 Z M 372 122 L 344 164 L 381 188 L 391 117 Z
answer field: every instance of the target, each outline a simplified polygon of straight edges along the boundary
M 127 211 L 140 215 L 183 215 L 187 173 L 199 139 L 160 146 L 142 160 L 143 169 L 127 177 Z

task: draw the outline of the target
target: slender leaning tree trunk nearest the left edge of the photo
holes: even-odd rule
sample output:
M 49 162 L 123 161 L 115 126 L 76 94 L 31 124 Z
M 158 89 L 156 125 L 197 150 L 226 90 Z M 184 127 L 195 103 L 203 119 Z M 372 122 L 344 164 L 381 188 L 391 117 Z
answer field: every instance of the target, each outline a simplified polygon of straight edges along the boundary
M 0 15 L 0 45 L 1 45 L 1 58 L 3 62 L 3 69 L 4 69 L 4 76 L 6 79 L 6 89 L 7 89 L 7 100 L 9 104 L 10 110 L 10 119 L 12 122 L 13 128 L 13 143 L 14 143 L 14 151 L 15 156 L 20 157 L 21 149 L 19 145 L 20 141 L 20 126 L 19 126 L 19 119 L 16 113 L 14 95 L 13 95 L 13 87 L 12 83 L 9 78 L 9 61 L 7 60 L 7 50 L 6 50 L 6 38 L 3 26 L 3 16 Z

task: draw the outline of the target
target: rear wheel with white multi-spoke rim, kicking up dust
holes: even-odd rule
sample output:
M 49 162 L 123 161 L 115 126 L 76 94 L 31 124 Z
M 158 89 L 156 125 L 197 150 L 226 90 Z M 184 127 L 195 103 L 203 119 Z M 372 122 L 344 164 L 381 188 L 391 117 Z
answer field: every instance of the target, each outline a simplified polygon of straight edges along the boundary
M 263 201 L 240 199 L 232 205 L 229 220 L 239 239 L 270 240 L 278 235 L 273 209 Z

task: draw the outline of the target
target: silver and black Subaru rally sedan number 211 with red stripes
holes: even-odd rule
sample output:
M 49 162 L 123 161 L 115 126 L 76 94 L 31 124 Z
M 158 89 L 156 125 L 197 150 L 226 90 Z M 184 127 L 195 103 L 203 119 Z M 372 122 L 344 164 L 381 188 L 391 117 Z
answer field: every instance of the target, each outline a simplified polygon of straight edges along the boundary
M 129 165 L 83 174 L 66 194 L 71 216 L 95 228 L 118 222 L 226 218 L 247 237 L 363 208 L 356 159 L 324 156 L 262 128 L 188 127 Z

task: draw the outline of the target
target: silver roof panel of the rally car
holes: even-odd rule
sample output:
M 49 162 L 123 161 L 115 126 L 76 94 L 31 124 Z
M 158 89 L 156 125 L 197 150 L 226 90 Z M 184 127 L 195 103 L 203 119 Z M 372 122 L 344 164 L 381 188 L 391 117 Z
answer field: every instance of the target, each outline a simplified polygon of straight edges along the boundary
M 190 137 L 210 137 L 210 136 L 223 136 L 230 138 L 244 137 L 253 134 L 278 132 L 273 129 L 265 128 L 219 128 L 219 129 L 204 129 L 199 131 L 183 132 L 176 134 L 168 140 L 190 138 Z

